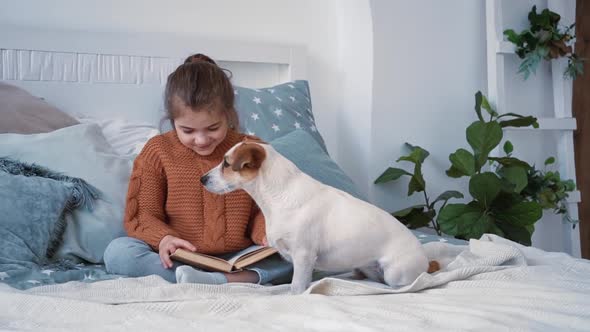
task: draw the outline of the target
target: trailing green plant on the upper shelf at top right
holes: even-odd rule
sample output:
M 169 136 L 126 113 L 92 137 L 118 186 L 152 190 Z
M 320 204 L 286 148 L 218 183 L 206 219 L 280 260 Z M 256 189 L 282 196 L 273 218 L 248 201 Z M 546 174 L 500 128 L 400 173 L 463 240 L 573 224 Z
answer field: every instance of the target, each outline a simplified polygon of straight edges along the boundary
M 572 29 L 575 23 L 561 31 L 559 20 L 561 16 L 549 9 L 537 14 L 537 6 L 533 6 L 528 19 L 530 28 L 516 33 L 512 29 L 504 31 L 508 41 L 516 45 L 516 54 L 524 59 L 518 73 L 528 79 L 531 73 L 536 73 L 541 60 L 552 60 L 567 57 L 567 69 L 564 77 L 575 79 L 584 73 L 584 59 L 573 52 L 571 44 L 575 38 Z

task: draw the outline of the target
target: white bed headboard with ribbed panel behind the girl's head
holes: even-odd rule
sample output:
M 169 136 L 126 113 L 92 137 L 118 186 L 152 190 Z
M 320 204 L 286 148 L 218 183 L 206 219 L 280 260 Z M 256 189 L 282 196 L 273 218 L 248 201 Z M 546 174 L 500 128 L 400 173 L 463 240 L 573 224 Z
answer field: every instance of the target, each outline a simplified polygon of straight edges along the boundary
M 71 114 L 159 124 L 166 78 L 194 53 L 265 87 L 306 79 L 302 46 L 214 41 L 164 33 L 43 31 L 0 26 L 0 81 Z

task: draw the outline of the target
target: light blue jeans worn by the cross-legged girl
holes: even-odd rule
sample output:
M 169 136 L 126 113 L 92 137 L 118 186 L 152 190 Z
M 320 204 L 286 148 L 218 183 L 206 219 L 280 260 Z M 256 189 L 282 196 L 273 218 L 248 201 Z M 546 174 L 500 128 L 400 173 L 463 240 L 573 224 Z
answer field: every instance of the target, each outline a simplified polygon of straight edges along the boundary
M 175 283 L 176 268 L 184 264 L 177 261 L 172 262 L 174 263 L 172 268 L 164 268 L 157 252 L 153 251 L 147 243 L 132 237 L 114 239 L 104 252 L 104 263 L 109 273 L 130 277 L 145 277 L 156 274 Z M 260 284 L 271 281 L 290 282 L 293 265 L 283 260 L 279 255 L 273 255 L 250 265 L 247 270 L 258 273 Z

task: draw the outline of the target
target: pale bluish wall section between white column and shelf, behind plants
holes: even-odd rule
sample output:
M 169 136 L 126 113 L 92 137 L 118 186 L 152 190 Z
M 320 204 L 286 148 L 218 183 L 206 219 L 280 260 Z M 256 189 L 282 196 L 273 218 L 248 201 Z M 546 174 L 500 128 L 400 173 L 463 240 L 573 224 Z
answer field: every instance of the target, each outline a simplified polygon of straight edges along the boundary
M 431 196 L 463 186 L 444 174 L 448 156 L 467 146 L 464 128 L 476 119 L 474 94 L 486 88 L 484 1 L 372 0 L 374 89 L 370 178 L 407 151 L 430 152 L 423 171 Z M 371 187 L 376 204 L 397 210 L 423 203 L 407 198 L 406 179 Z

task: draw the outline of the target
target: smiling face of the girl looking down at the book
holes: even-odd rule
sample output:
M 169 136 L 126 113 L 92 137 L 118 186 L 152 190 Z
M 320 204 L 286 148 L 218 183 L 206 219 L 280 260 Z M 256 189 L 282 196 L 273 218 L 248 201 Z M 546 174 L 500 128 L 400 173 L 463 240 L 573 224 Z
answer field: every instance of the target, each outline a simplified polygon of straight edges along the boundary
M 179 105 L 177 105 L 179 107 Z M 223 111 L 205 108 L 193 111 L 180 107 L 174 129 L 180 142 L 201 156 L 208 156 L 225 139 L 229 128 Z

